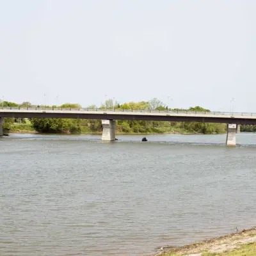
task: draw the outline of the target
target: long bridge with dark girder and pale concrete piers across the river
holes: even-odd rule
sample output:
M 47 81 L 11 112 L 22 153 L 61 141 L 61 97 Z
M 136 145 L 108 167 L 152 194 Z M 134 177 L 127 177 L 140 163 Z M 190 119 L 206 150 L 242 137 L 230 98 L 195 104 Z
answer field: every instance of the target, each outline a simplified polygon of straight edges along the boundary
M 158 111 L 132 109 L 71 108 L 1 108 L 0 136 L 3 120 L 9 118 L 82 118 L 102 120 L 102 140 L 115 140 L 115 120 L 152 120 L 169 122 L 209 122 L 227 124 L 227 145 L 236 145 L 236 132 L 241 124 L 256 124 L 256 113 Z

